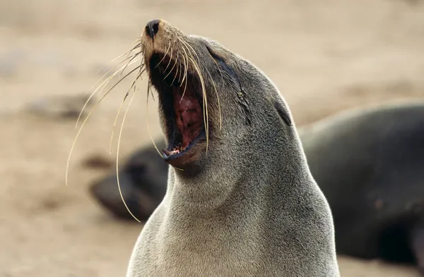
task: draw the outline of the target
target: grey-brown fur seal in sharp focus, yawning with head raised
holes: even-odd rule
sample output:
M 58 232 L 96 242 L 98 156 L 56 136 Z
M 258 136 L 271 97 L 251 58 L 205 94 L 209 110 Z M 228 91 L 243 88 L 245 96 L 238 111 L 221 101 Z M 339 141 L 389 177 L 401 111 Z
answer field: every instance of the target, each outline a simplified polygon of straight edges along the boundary
M 141 52 L 171 166 L 126 276 L 339 276 L 329 205 L 271 80 L 164 20 Z

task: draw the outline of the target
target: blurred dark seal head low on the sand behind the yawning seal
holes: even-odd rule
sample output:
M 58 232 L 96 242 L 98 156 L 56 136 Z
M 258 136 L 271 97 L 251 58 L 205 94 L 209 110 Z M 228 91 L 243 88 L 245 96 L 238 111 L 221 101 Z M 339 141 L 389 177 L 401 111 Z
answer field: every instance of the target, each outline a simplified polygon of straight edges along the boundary
M 165 148 L 163 140 L 158 140 L 156 144 Z M 162 201 L 166 192 L 167 171 L 168 165 L 153 146 L 130 156 L 119 170 L 122 197 L 131 213 L 139 220 L 146 221 Z M 89 192 L 117 218 L 133 218 L 119 195 L 116 174 L 96 181 L 90 185 Z

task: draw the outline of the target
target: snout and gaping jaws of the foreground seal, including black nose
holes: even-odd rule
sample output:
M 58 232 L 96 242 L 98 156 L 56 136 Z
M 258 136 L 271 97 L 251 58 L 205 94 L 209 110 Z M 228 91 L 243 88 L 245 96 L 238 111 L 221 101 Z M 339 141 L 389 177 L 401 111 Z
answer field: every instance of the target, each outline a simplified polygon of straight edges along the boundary
M 197 161 L 197 154 L 208 142 L 208 87 L 199 66 L 197 44 L 165 20 L 149 21 L 141 36 L 150 85 L 158 92 L 167 137 L 163 158 L 173 166 Z

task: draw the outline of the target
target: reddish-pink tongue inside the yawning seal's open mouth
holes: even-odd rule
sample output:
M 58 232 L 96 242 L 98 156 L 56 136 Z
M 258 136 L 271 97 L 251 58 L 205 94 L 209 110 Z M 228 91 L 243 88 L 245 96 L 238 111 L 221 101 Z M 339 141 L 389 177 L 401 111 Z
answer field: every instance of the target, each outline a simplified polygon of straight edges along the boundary
M 171 152 L 173 150 L 178 150 L 178 152 L 184 151 L 202 130 L 203 121 L 199 99 L 196 97 L 196 92 L 189 87 L 187 87 L 184 93 L 182 87 L 172 86 L 176 116 L 175 122 L 179 129 L 180 141 L 179 145 L 176 145 Z

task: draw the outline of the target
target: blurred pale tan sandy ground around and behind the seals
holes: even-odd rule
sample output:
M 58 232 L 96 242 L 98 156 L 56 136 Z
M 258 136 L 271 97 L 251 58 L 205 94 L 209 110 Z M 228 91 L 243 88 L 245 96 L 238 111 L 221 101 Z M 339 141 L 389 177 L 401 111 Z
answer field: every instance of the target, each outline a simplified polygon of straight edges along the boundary
M 124 82 L 90 118 L 71 160 L 74 119 L 34 116 L 40 97 L 90 90 L 99 70 L 153 18 L 212 37 L 262 68 L 297 125 L 353 106 L 424 96 L 420 1 L 0 1 L 0 276 L 124 276 L 142 225 L 116 221 L 87 193 L 105 171 Z M 116 81 L 116 80 L 115 80 Z M 149 142 L 146 93 L 126 120 L 121 156 Z M 48 104 L 47 108 L 55 104 Z M 156 104 L 149 104 L 159 135 Z M 114 146 L 116 145 L 116 140 Z M 343 276 L 417 276 L 406 266 L 339 257 Z

